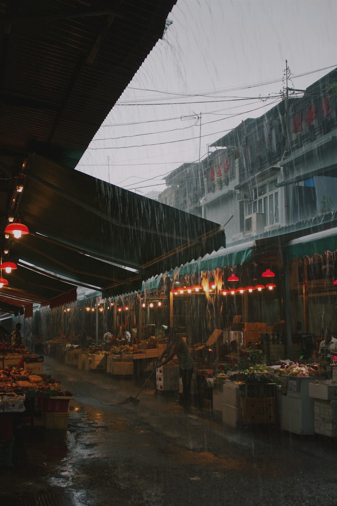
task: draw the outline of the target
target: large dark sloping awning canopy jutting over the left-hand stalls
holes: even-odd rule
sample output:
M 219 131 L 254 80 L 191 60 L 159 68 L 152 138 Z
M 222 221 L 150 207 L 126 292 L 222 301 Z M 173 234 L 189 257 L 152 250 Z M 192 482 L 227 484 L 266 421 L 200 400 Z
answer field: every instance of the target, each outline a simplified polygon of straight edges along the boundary
M 215 223 L 39 155 L 29 160 L 20 218 L 30 234 L 13 241 L 12 259 L 111 295 L 225 246 Z

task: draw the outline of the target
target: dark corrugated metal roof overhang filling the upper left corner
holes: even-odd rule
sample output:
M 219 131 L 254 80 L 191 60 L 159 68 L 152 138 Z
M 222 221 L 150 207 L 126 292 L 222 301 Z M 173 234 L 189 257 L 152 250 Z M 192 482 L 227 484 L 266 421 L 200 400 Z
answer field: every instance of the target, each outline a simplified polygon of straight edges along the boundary
M 12 13 L 0 4 L 0 148 L 74 167 L 174 4 L 26 0 Z

